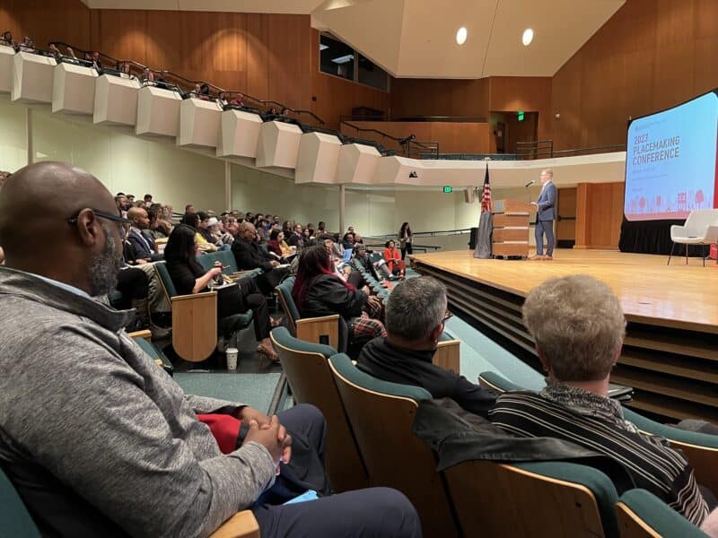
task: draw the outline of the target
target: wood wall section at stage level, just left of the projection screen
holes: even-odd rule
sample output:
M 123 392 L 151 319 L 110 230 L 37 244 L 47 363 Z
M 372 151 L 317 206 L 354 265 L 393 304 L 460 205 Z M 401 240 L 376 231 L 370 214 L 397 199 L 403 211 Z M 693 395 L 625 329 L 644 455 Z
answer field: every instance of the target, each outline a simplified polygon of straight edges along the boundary
M 574 248 L 618 248 L 625 183 L 579 183 Z

